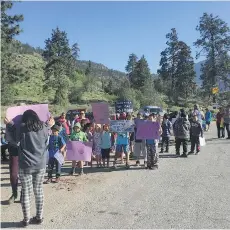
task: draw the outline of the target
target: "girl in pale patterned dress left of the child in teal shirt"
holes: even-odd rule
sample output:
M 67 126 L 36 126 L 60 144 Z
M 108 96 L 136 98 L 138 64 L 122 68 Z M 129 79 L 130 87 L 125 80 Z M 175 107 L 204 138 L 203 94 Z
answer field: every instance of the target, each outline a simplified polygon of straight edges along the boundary
M 96 124 L 93 134 L 93 154 L 96 156 L 97 167 L 101 167 L 101 125 Z

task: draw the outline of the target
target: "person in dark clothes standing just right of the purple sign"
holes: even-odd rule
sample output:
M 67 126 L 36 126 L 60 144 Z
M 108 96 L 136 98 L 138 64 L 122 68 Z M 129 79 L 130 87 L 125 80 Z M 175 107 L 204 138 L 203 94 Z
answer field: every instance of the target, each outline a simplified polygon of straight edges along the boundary
M 162 122 L 162 146 L 161 146 L 161 151 L 160 153 L 164 152 L 164 144 L 166 144 L 166 150 L 165 152 L 168 153 L 169 152 L 169 138 L 171 135 L 171 127 L 172 124 L 168 119 L 168 115 L 164 114 L 164 118 L 163 118 L 163 122 Z

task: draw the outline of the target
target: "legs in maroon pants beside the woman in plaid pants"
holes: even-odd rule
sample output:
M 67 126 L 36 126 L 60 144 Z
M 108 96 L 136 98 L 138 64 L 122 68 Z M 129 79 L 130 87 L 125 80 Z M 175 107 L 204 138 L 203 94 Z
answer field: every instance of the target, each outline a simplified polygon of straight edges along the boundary
M 10 184 L 12 188 L 12 195 L 9 202 L 11 200 L 15 200 L 18 197 L 18 156 L 10 155 Z M 12 200 L 12 201 L 13 201 Z

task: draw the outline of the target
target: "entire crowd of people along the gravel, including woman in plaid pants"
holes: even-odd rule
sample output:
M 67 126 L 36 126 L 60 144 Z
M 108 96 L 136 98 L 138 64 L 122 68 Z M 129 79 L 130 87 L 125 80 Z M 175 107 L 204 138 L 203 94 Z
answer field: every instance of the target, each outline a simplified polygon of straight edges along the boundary
M 220 109 L 217 114 L 218 137 L 223 138 L 225 129 L 229 133 L 229 114 Z M 41 224 L 43 222 L 43 183 L 58 183 L 61 176 L 62 165 L 54 157 L 57 151 L 66 156 L 66 143 L 68 141 L 92 142 L 91 162 L 72 161 L 70 175 L 76 173 L 78 166 L 79 174 L 84 173 L 84 166 L 93 166 L 93 161 L 97 167 L 110 167 L 111 154 L 114 152 L 112 168 L 116 168 L 118 159 L 121 164 L 125 161 L 126 169 L 130 168 L 130 158 L 136 160 L 139 166 L 143 157 L 143 165 L 146 169 L 157 169 L 159 160 L 158 144 L 161 141 L 160 153 L 169 152 L 170 136 L 175 137 L 176 155 L 187 157 L 189 154 L 200 152 L 200 138 L 203 138 L 204 131 L 208 131 L 212 121 L 212 113 L 207 109 L 202 114 L 198 106 L 186 114 L 181 109 L 175 117 L 164 114 L 163 118 L 158 114 L 141 114 L 136 117 L 132 114 L 116 114 L 110 117 L 111 120 L 134 120 L 134 124 L 139 119 L 145 119 L 159 123 L 161 138 L 150 140 L 139 140 L 136 138 L 136 127 L 134 132 L 114 133 L 110 132 L 109 124 L 96 124 L 85 118 L 85 112 L 72 121 L 67 121 L 66 114 L 62 113 L 56 119 L 50 118 L 46 123 L 42 122 L 38 115 L 28 110 L 22 116 L 22 123 L 17 127 L 12 121 L 5 118 L 11 142 L 8 142 L 10 155 L 10 181 L 12 186 L 12 196 L 9 203 L 14 202 L 18 197 L 18 175 L 21 181 L 21 204 L 24 219 L 23 226 L 30 223 Z M 205 126 L 204 126 L 205 123 Z M 188 151 L 188 142 L 191 141 L 191 149 Z M 180 154 L 180 147 L 183 145 L 183 153 Z M 47 167 L 48 152 L 48 172 L 47 180 L 44 181 Z M 84 165 L 85 163 L 85 165 Z M 55 168 L 55 180 L 53 181 L 53 171 Z M 30 193 L 34 191 L 36 201 L 36 216 L 30 219 Z

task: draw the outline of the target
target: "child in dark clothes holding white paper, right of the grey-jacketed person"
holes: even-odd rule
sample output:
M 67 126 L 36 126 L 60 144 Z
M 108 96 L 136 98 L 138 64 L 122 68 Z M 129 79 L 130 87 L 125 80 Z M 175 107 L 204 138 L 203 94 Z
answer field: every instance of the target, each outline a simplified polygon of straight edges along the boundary
M 195 145 L 196 145 L 196 154 L 200 152 L 200 140 L 199 136 L 203 137 L 203 129 L 198 122 L 198 117 L 196 114 L 193 116 L 193 120 L 191 121 L 191 151 L 189 154 L 194 153 Z

